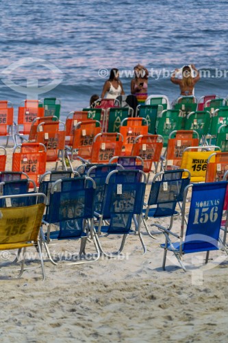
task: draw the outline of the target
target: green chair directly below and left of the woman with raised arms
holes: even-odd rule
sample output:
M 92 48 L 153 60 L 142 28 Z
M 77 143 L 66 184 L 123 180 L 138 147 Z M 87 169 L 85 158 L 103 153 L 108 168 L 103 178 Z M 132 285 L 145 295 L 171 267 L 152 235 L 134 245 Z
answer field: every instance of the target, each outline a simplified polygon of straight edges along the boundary
M 167 146 L 168 136 L 174 130 L 181 130 L 183 114 L 181 110 L 164 110 L 159 117 L 157 134 L 160 134 L 163 139 L 163 147 Z

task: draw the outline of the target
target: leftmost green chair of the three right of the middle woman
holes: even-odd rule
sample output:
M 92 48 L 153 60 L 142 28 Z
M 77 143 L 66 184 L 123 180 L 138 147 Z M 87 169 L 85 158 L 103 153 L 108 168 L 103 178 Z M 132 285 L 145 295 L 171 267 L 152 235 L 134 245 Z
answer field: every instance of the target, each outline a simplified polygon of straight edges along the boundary
M 148 132 L 155 134 L 157 116 L 159 116 L 163 110 L 163 105 L 139 105 L 137 106 L 137 117 L 146 118 L 149 124 Z

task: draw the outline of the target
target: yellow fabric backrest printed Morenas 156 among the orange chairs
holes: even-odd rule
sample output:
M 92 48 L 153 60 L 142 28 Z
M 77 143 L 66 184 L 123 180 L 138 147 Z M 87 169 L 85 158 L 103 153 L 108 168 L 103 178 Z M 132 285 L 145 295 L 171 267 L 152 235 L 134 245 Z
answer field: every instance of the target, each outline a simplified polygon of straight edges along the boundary
M 205 182 L 207 158 L 213 154 L 212 151 L 205 152 L 183 152 L 181 160 L 181 168 L 188 169 L 191 174 L 192 182 Z M 214 162 L 214 156 L 210 160 Z M 183 173 L 183 178 L 186 178 L 188 173 Z

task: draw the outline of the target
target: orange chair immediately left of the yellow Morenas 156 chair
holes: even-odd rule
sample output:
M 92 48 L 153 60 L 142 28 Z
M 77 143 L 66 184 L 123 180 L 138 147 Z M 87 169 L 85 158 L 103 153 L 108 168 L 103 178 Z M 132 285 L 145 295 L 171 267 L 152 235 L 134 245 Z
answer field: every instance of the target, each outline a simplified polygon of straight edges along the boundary
M 193 136 L 197 138 L 193 138 Z M 175 136 L 175 138 L 172 138 Z M 170 132 L 168 137 L 168 145 L 166 152 L 165 169 L 172 169 L 171 166 L 179 167 L 181 165 L 181 158 L 183 150 L 186 147 L 195 147 L 199 145 L 199 134 L 194 130 L 175 130 Z

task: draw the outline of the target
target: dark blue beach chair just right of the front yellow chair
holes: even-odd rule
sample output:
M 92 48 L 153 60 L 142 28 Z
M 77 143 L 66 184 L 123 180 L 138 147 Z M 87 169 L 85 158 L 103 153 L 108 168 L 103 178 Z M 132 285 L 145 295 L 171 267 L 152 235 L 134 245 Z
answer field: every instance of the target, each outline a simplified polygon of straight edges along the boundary
M 94 180 L 88 177 L 64 178 L 53 183 L 50 191 L 49 211 L 43 220 L 44 225 L 47 226 L 47 233 L 43 230 L 44 225 L 42 225 L 41 237 L 49 259 L 54 265 L 57 263 L 51 257 L 48 246 L 51 241 L 81 240 L 79 261 L 68 264 L 90 263 L 99 259 L 99 248 L 93 237 L 95 188 Z M 81 259 L 82 255 L 86 255 L 88 232 L 90 232 L 97 251 L 97 257 Z M 75 260 L 75 256 L 73 259 Z

